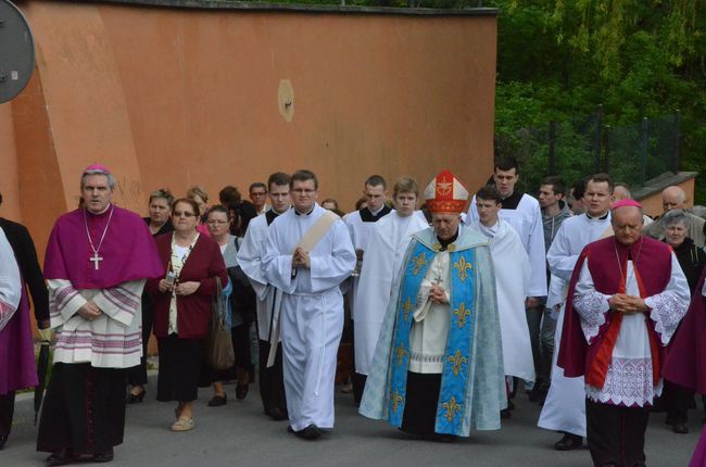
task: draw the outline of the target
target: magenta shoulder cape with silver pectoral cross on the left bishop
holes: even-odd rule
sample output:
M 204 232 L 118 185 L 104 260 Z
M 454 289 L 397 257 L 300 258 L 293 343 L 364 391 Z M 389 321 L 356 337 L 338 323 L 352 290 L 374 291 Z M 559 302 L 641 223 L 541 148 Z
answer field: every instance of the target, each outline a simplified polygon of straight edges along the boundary
M 111 210 L 113 217 L 108 223 Z M 86 213 L 86 220 L 84 220 Z M 103 258 L 96 269 L 86 224 Z M 99 248 L 108 226 L 105 239 Z M 56 219 L 45 256 L 46 279 L 67 279 L 74 289 L 108 289 L 118 283 L 164 275 L 154 240 L 137 214 L 111 204 L 102 214 L 76 210 Z

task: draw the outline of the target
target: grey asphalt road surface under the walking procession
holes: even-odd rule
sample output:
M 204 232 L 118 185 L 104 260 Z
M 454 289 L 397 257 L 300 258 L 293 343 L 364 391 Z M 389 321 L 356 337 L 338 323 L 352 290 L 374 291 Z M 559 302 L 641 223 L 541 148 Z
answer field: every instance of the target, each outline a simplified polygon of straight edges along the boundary
M 318 441 L 287 433 L 286 421 L 272 421 L 262 412 L 257 386 L 244 401 L 236 401 L 235 386 L 226 386 L 228 404 L 207 407 L 211 390 L 194 403 L 196 428 L 169 431 L 173 403 L 154 400 L 156 380 L 150 377 L 144 402 L 127 408 L 124 444 L 115 449 L 113 466 L 591 466 L 587 449 L 554 451 L 557 433 L 537 428 L 540 407 L 527 395 L 515 399 L 513 417 L 499 431 L 471 432 L 455 443 L 415 441 L 380 420 L 357 415 L 350 394 L 337 394 L 336 429 Z M 701 405 L 701 403 L 699 403 Z M 35 452 L 30 394 L 18 396 L 15 426 L 0 466 L 41 466 L 47 454 Z M 665 414 L 652 414 L 646 453 L 650 466 L 686 466 L 702 429 L 703 412 L 690 412 L 689 434 L 675 434 Z

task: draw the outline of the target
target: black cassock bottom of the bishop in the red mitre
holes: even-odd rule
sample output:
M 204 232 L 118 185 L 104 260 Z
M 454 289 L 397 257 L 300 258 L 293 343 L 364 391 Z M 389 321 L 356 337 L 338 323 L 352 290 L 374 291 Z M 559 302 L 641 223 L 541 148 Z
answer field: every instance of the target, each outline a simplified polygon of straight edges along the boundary
M 441 374 L 407 371 L 407 401 L 400 429 L 409 434 L 434 436 Z

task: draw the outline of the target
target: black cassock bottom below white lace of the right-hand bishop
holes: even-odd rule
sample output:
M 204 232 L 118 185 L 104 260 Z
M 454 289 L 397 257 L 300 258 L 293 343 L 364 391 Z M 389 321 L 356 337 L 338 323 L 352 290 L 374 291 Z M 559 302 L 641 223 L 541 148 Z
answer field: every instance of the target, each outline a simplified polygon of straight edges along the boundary
M 645 463 L 648 407 L 625 407 L 585 400 L 587 441 L 595 466 Z

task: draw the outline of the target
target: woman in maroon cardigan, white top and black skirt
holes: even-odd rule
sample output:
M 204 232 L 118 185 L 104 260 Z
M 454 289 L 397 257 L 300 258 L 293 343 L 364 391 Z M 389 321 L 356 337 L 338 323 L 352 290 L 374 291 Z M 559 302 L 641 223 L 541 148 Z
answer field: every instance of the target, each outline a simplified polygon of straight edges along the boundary
M 157 401 L 177 401 L 173 431 L 193 428 L 192 402 L 198 397 L 203 340 L 209 333 L 213 294 L 228 282 L 218 244 L 197 231 L 199 205 L 174 203 L 174 234 L 156 238 L 167 274 L 148 282 L 154 294 L 154 336 L 160 350 Z

